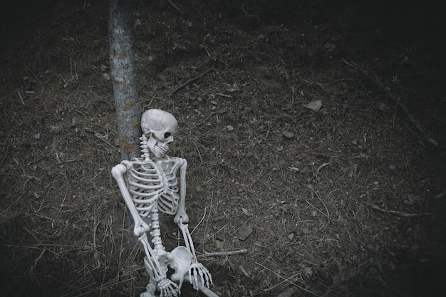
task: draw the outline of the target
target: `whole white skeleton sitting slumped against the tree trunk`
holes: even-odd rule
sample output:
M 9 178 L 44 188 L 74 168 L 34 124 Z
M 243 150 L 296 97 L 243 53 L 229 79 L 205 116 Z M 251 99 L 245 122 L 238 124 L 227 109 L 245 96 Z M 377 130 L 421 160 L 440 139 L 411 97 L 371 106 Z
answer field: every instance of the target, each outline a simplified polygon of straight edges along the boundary
M 211 274 L 197 261 L 187 224 L 187 161 L 166 155 L 177 132 L 177 120 L 164 110 L 150 109 L 142 114 L 141 127 L 141 157 L 124 160 L 112 170 L 135 223 L 133 234 L 145 251 L 144 264 L 150 280 L 140 297 L 180 296 L 184 281 L 189 281 L 195 290 L 206 296 L 217 297 L 209 289 Z M 180 172 L 180 180 L 177 172 Z M 185 246 L 165 251 L 159 212 L 175 214 L 174 222 L 182 232 Z M 175 271 L 170 276 L 167 274 L 169 268 Z

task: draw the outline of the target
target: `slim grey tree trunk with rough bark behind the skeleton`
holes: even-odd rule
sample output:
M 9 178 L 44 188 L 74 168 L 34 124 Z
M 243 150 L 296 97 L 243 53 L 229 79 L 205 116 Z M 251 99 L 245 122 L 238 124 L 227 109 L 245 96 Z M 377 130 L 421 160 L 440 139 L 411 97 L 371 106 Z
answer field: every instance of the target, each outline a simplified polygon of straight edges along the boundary
M 140 152 L 139 142 L 142 133 L 135 53 L 133 53 L 133 14 L 131 4 L 122 0 L 109 1 L 108 43 L 120 155 L 121 160 L 132 160 Z

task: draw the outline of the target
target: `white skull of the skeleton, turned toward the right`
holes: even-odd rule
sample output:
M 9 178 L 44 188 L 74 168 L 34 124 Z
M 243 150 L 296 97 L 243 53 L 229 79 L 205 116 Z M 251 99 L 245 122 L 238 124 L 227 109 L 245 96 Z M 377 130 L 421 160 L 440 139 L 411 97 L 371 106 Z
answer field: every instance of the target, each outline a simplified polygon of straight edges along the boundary
M 160 109 L 147 110 L 141 116 L 142 132 L 149 138 L 147 145 L 155 157 L 162 157 L 169 150 L 178 123 L 174 116 Z

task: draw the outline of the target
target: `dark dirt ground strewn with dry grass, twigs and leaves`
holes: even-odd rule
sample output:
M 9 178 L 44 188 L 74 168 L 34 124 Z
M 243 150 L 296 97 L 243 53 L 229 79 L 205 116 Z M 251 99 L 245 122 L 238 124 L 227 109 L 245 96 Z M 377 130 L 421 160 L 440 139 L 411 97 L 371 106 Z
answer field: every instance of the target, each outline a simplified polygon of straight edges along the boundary
M 106 1 L 28 2 L 0 27 L 0 294 L 139 296 Z M 136 1 L 140 100 L 179 122 L 170 155 L 219 296 L 445 291 L 440 14 L 353 2 Z

